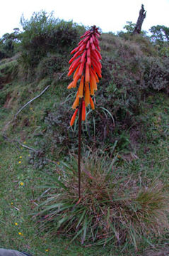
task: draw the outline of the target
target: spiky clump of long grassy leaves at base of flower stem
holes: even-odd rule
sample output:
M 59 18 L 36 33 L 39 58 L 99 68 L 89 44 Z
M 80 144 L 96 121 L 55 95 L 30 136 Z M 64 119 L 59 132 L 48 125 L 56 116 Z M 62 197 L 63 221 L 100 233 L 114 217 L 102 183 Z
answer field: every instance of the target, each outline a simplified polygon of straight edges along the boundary
M 113 162 L 99 157 L 83 159 L 81 198 L 78 199 L 77 161 L 62 164 L 37 213 L 40 229 L 78 238 L 85 245 L 125 245 L 168 227 L 168 197 L 162 182 L 122 176 Z M 51 185 L 52 183 L 52 185 Z M 151 231 L 150 231 L 151 230 Z

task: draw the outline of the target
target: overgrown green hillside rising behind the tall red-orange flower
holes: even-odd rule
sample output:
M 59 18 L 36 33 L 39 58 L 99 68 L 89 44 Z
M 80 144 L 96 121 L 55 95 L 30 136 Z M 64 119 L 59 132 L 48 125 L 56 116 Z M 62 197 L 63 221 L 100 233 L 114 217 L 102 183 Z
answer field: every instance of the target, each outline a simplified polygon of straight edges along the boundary
M 28 21 L 23 24 L 25 33 L 15 41 L 16 50 L 0 60 L 0 247 L 25 250 L 37 256 L 158 255 L 158 252 L 168 255 L 166 46 L 158 46 L 141 35 L 101 35 L 103 78 L 94 97 L 95 110 L 88 108 L 83 122 L 82 155 L 87 171 L 97 177 L 93 183 L 95 191 L 97 183 L 105 182 L 105 172 L 111 166 L 111 183 L 119 202 L 115 210 L 120 212 L 123 206 L 128 210 L 123 223 L 118 225 L 117 221 L 112 227 L 114 237 L 105 242 L 105 247 L 91 246 L 91 240 L 81 245 L 81 238 L 70 242 L 71 233 L 65 237 L 62 229 L 56 231 L 57 221 L 45 221 L 40 210 L 49 207 L 41 206 L 47 198 L 62 193 L 56 185 L 58 177 L 65 185 L 72 185 L 69 181 L 72 174 L 67 178 L 66 168 L 72 158 L 76 159 L 78 123 L 69 126 L 75 91 L 66 89 L 71 82 L 67 73 L 70 52 L 85 28 L 62 21 L 54 27 L 57 37 L 53 39 L 52 33 L 45 32 L 47 41 L 43 41 L 42 34 L 35 31 L 28 40 L 34 27 Z M 53 23 L 47 26 L 52 31 Z M 91 167 L 90 162 L 98 167 Z M 86 182 L 85 176 L 83 183 Z M 142 200 L 145 215 L 141 215 L 135 201 L 129 201 L 136 193 L 140 196 L 140 191 L 144 191 L 143 198 L 136 198 Z M 128 205 L 126 202 L 124 205 L 127 197 Z M 110 215 L 107 208 L 106 216 Z M 131 225 L 125 220 L 132 213 L 140 213 L 135 228 L 132 218 Z M 79 227 L 80 224 L 79 220 Z

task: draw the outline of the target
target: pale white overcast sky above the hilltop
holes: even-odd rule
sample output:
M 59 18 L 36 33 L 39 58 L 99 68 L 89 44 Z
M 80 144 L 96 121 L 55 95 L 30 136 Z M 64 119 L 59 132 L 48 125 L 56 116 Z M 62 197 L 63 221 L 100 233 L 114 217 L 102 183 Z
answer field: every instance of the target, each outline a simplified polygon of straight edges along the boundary
M 103 32 L 121 31 L 126 21 L 136 23 L 141 4 L 147 11 L 142 29 L 169 26 L 169 0 L 7 0 L 1 3 L 0 37 L 20 26 L 21 15 L 30 18 L 34 11 L 54 11 L 56 18 L 73 20 L 85 26 L 99 26 Z

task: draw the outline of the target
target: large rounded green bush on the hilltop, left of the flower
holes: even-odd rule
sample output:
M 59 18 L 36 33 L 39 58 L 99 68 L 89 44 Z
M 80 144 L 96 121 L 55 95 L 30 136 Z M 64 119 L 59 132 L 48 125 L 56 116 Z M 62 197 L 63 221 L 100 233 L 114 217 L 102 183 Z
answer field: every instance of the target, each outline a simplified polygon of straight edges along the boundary
M 72 21 L 61 21 L 45 11 L 34 13 L 30 21 L 21 18 L 23 38 L 21 60 L 34 67 L 49 53 L 63 53 L 74 46 L 78 32 L 83 29 Z

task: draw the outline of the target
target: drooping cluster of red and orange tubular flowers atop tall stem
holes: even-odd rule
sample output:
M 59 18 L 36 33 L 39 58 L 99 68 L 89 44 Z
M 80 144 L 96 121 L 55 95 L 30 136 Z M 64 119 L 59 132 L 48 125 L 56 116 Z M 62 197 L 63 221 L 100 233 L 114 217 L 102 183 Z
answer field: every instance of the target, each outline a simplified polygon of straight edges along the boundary
M 86 119 L 86 107 L 89 104 L 94 110 L 95 105 L 91 96 L 94 95 L 95 90 L 97 90 L 97 82 L 99 82 L 98 78 L 102 77 L 102 65 L 100 63 L 102 57 L 100 55 L 100 46 L 98 41 L 98 38 L 100 38 L 98 28 L 93 26 L 91 30 L 86 31 L 81 38 L 83 39 L 78 43 L 78 47 L 71 51 L 71 54 L 74 54 L 74 56 L 69 60 L 69 64 L 71 65 L 68 76 L 74 73 L 74 78 L 67 88 L 70 89 L 76 87 L 78 80 L 80 80 L 76 100 L 72 106 L 72 108 L 76 110 L 71 117 L 70 125 L 74 124 L 80 98 L 83 100 L 83 121 Z

